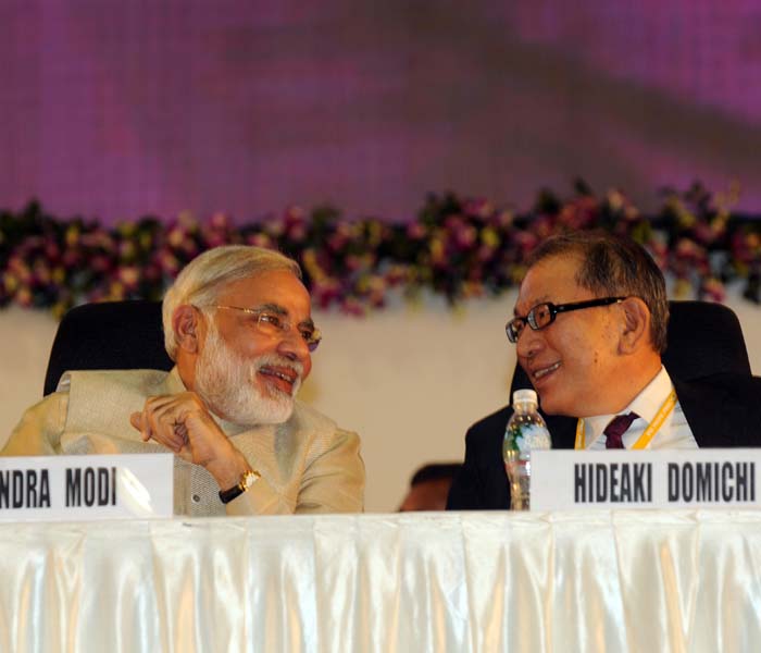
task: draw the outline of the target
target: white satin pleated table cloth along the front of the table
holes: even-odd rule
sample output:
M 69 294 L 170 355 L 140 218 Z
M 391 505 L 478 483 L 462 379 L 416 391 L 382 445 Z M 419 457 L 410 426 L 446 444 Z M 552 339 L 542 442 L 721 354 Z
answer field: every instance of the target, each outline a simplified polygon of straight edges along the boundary
M 0 525 L 0 651 L 760 651 L 760 512 Z

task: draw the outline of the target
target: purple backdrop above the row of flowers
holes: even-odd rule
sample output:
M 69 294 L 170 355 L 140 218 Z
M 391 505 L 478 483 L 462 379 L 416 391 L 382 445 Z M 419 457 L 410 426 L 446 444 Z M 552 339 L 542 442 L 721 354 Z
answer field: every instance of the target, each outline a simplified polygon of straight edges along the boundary
M 396 220 L 582 175 L 758 211 L 759 34 L 758 0 L 5 0 L 0 207 Z

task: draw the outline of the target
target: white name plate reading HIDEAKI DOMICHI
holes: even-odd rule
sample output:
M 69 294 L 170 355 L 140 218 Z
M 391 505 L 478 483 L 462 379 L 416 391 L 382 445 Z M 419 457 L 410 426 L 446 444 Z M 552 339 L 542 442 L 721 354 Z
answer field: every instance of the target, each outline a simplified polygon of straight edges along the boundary
M 760 478 L 753 448 L 536 451 L 531 508 L 759 507 Z

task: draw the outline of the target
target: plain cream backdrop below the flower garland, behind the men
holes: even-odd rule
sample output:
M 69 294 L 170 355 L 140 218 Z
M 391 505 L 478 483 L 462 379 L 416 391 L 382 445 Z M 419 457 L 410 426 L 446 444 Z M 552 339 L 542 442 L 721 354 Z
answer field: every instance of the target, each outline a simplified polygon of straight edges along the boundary
M 364 319 L 315 312 L 325 341 L 302 397 L 360 433 L 367 510 L 395 510 L 423 463 L 461 460 L 467 427 L 508 402 L 515 354 L 503 325 L 514 301 L 509 293 L 453 312 L 429 298 Z M 761 309 L 736 295 L 727 304 L 761 374 Z M 41 398 L 54 331 L 46 312 L 0 311 L 0 444 Z

